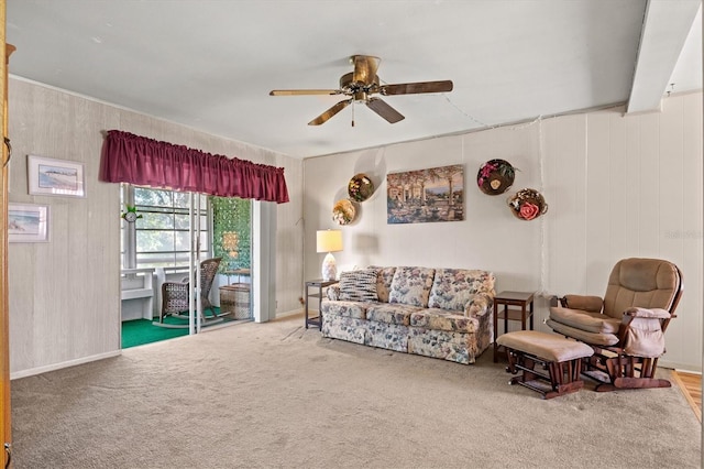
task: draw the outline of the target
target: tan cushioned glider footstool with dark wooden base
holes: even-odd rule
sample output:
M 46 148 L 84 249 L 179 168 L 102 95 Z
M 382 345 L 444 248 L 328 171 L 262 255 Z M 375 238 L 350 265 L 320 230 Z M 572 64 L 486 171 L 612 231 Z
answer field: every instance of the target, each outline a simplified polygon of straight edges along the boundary
M 594 350 L 586 343 L 537 330 L 504 334 L 496 343 L 506 348 L 506 371 L 512 374 L 522 371 L 522 374 L 512 378 L 509 384 L 520 384 L 537 391 L 543 399 L 582 389 L 582 359 L 594 355 Z M 548 373 L 536 370 L 537 364 L 548 370 Z

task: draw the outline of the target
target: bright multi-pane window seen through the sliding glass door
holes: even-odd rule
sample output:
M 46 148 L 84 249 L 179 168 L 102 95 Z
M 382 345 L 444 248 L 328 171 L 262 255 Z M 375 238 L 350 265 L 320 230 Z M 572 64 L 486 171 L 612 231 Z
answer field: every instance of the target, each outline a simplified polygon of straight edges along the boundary
M 136 207 L 141 216 L 134 222 L 122 222 L 122 266 L 124 269 L 188 266 L 190 252 L 189 194 L 122 185 L 124 206 Z M 208 197 L 195 195 L 200 218 L 200 253 L 210 252 L 210 217 Z

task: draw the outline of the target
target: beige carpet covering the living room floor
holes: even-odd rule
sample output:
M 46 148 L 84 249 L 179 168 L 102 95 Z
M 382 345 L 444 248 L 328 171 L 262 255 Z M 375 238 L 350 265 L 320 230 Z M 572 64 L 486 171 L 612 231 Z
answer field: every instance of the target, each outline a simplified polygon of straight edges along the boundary
M 669 373 L 668 373 L 669 374 Z M 550 401 L 295 317 L 12 383 L 14 468 L 698 468 L 679 388 Z

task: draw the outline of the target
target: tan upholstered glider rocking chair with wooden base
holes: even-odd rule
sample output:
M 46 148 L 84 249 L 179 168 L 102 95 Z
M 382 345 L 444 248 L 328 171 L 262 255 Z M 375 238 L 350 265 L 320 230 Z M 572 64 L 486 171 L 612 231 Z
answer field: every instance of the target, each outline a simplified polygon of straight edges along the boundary
M 656 378 L 656 369 L 681 294 L 682 273 L 673 263 L 624 259 L 614 266 L 604 298 L 565 295 L 546 324 L 594 349 L 582 370 L 600 383 L 596 391 L 670 388 Z

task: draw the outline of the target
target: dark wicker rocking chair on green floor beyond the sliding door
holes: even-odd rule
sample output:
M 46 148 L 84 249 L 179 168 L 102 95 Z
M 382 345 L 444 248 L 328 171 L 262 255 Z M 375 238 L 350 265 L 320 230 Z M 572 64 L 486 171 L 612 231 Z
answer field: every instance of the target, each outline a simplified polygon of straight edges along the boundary
M 222 258 L 206 259 L 200 263 L 200 303 L 202 305 L 205 320 L 205 310 L 209 309 L 212 317 L 216 317 L 216 310 L 210 304 L 208 296 L 210 295 L 210 288 L 212 282 L 220 266 Z M 182 313 L 189 310 L 188 305 L 188 277 L 185 277 L 180 282 L 164 282 L 162 284 L 162 310 L 158 316 L 158 321 L 163 323 L 166 316 L 180 316 Z

